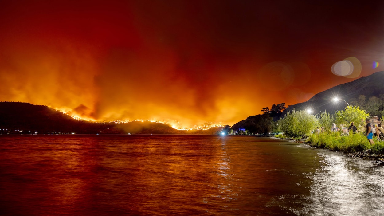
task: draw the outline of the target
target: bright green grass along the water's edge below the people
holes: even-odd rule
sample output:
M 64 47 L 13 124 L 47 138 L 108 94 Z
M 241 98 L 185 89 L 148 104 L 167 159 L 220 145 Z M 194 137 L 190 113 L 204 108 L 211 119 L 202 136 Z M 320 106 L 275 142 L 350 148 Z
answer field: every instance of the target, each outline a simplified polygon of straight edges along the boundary
M 371 146 L 363 133 L 340 135 L 339 133 L 328 132 L 312 134 L 308 137 L 308 141 L 311 145 L 319 148 L 326 148 L 331 151 L 354 153 L 356 151 L 371 149 L 372 153 L 384 154 L 384 141 L 377 140 L 376 137 L 374 137 L 373 140 L 375 144 Z

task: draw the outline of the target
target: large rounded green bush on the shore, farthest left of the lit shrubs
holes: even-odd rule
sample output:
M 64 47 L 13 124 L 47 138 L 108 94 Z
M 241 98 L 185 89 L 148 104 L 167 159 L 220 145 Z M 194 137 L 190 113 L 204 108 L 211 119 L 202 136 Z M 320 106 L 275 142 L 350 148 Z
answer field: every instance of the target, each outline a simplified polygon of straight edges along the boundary
M 318 125 L 318 120 L 315 116 L 306 111 L 288 112 L 285 118 L 278 122 L 280 130 L 289 137 L 305 137 Z

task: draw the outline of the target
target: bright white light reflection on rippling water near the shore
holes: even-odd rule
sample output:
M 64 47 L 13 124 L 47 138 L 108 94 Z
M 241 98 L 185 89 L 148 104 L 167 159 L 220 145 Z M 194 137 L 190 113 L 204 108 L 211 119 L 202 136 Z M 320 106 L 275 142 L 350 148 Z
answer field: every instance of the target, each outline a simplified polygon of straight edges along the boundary
M 308 211 L 335 216 L 383 215 L 384 198 L 377 196 L 384 194 L 381 170 L 374 169 L 371 161 L 329 152 L 320 155 L 323 165 L 313 175 Z

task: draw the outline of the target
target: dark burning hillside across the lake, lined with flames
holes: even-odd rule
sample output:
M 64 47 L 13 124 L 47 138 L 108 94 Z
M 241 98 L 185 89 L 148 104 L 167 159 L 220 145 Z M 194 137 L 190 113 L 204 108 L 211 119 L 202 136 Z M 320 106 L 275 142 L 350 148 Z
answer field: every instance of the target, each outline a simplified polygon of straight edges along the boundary
M 215 134 L 221 130 L 180 131 L 170 125 L 132 121 L 129 123 L 92 122 L 73 119 L 43 105 L 22 102 L 0 102 L 0 134 Z

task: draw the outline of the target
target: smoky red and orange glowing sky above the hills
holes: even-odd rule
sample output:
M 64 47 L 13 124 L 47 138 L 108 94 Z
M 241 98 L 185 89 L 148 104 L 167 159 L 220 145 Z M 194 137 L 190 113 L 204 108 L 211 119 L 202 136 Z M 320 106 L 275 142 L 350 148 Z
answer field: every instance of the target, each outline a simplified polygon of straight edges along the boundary
M 1 1 L 0 101 L 94 120 L 233 125 L 381 71 L 383 6 Z

